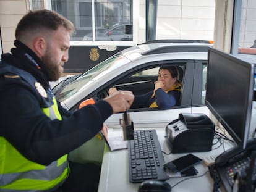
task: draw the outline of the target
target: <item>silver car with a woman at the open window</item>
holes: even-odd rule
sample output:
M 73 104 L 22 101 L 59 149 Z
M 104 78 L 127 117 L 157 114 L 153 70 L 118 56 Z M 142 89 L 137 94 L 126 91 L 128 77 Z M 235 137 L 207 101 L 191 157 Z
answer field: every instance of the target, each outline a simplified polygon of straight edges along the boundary
M 86 99 L 99 101 L 107 97 L 111 87 L 130 90 L 134 94 L 147 93 L 154 88 L 159 67 L 174 65 L 179 69 L 178 78 L 182 83 L 180 105 L 170 109 L 128 109 L 134 128 L 165 127 L 180 113 L 208 115 L 205 83 L 209 46 L 212 44 L 208 41 L 175 40 L 155 40 L 131 46 L 59 86 L 54 93 L 63 107 L 75 111 Z M 106 125 L 121 128 L 122 115 L 111 115 Z

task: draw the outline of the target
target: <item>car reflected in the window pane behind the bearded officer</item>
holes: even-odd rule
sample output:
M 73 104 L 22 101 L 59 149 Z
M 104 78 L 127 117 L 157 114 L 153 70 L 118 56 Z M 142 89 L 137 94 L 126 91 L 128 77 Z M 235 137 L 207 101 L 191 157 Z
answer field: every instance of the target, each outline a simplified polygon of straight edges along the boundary
M 130 23 L 116 23 L 104 31 L 97 31 L 95 33 L 95 40 L 97 41 L 132 41 L 132 24 Z M 83 36 L 84 41 L 92 41 L 92 33 Z

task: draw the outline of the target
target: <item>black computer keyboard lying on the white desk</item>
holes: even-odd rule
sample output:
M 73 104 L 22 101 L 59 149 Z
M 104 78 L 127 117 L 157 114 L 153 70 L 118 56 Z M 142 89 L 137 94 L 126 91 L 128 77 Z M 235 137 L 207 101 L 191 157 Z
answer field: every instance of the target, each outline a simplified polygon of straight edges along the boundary
M 156 130 L 135 130 L 134 140 L 128 141 L 128 155 L 131 183 L 168 179 Z

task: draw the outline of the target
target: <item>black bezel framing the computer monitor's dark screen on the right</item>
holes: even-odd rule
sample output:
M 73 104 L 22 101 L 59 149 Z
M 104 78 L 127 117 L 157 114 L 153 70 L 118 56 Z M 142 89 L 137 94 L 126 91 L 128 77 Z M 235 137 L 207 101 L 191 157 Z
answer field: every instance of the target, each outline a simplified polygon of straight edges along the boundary
M 230 61 L 234 61 L 236 63 L 239 63 L 241 65 L 244 65 L 245 67 L 249 68 L 249 85 L 247 87 L 247 101 L 246 101 L 246 106 L 245 106 L 245 113 L 247 114 L 245 117 L 245 122 L 244 123 L 244 130 L 242 131 L 242 135 L 239 136 L 237 133 L 234 132 L 233 128 L 230 127 L 230 125 L 221 117 L 221 115 L 215 110 L 215 107 L 211 105 L 211 103 L 208 101 L 208 94 L 206 91 L 206 96 L 205 96 L 205 105 L 208 107 L 210 112 L 215 116 L 216 120 L 221 123 L 221 125 L 225 128 L 226 131 L 228 131 L 229 135 L 233 138 L 233 140 L 236 142 L 238 146 L 241 146 L 241 148 L 245 149 L 246 148 L 246 143 L 247 140 L 249 139 L 249 130 L 250 130 L 250 119 L 251 119 L 251 112 L 252 112 L 252 101 L 254 97 L 254 64 L 250 64 L 249 62 L 243 61 L 242 59 L 239 59 L 238 57 L 235 57 L 231 54 L 227 54 L 223 51 L 220 51 L 215 48 L 208 48 L 208 62 L 207 62 L 207 86 L 208 86 L 208 78 L 209 78 L 209 71 L 210 71 L 210 66 L 209 66 L 209 61 L 211 57 L 211 52 L 213 54 L 218 54 L 221 57 L 224 57 L 225 59 L 229 59 Z

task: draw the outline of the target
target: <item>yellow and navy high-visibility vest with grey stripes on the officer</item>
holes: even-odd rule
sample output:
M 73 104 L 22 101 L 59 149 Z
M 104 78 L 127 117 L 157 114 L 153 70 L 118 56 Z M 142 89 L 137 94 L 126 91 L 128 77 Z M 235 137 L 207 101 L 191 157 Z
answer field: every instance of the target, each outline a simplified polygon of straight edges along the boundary
M 0 75 L 5 72 L 20 75 L 30 85 L 33 87 L 35 85 L 35 78 L 23 70 L 12 66 L 5 68 L 1 66 Z M 62 120 L 51 90 L 46 92 L 48 98 L 43 98 L 45 106 L 42 107 L 42 111 L 51 120 Z M 68 173 L 67 154 L 48 166 L 37 164 L 22 156 L 11 143 L 4 137 L 0 137 L 0 191 L 53 191 L 64 182 Z

